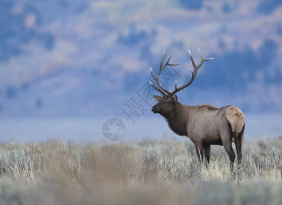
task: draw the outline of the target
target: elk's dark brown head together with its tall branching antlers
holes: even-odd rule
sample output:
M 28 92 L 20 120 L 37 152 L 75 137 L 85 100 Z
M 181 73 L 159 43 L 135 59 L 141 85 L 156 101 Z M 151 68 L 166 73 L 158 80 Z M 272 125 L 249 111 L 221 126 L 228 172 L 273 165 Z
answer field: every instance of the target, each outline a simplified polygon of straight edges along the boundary
M 167 66 L 177 66 L 177 65 L 179 65 L 179 64 L 170 64 L 169 63 L 169 60 L 171 59 L 172 52 L 171 52 L 171 55 L 169 55 L 169 58 L 167 59 L 167 62 L 163 66 L 163 58 L 164 58 L 164 55 L 165 55 L 165 50 L 163 51 L 163 57 L 162 57 L 162 60 L 160 61 L 160 70 L 158 70 L 158 74 L 156 75 L 156 77 L 154 77 L 154 74 L 152 72 L 152 68 L 150 68 L 152 77 L 153 77 L 154 81 L 156 81 L 156 85 L 157 86 L 155 86 L 151 81 L 150 81 L 150 84 L 154 87 L 154 89 L 156 89 L 158 92 L 160 92 L 160 94 L 163 94 L 163 97 L 161 97 L 161 96 L 154 96 L 154 99 L 156 101 L 158 101 L 158 103 L 152 107 L 152 111 L 154 113 L 160 113 L 160 115 L 163 115 L 165 118 L 168 118 L 169 115 L 171 115 L 171 113 L 173 113 L 173 111 L 175 111 L 175 107 L 176 107 L 177 102 L 178 102 L 178 96 L 176 96 L 175 94 L 177 92 L 179 92 L 180 90 L 184 89 L 185 87 L 188 87 L 189 85 L 191 85 L 191 83 L 194 81 L 194 79 L 195 79 L 195 77 L 197 75 L 197 72 L 198 72 L 199 68 L 201 68 L 201 66 L 203 65 L 203 63 L 205 61 L 209 61 L 211 59 L 214 59 L 213 57 L 212 58 L 208 58 L 208 59 L 204 59 L 203 55 L 201 55 L 201 51 L 199 49 L 198 49 L 198 51 L 199 51 L 199 54 L 201 56 L 201 62 L 197 66 L 195 64 L 195 61 L 194 61 L 193 57 L 192 57 L 191 51 L 188 49 L 188 52 L 190 54 L 191 61 L 192 61 L 192 64 L 193 64 L 193 70 L 191 70 L 191 72 L 192 72 L 191 80 L 188 81 L 188 83 L 186 83 L 185 85 L 182 85 L 181 87 L 178 87 L 177 86 L 177 82 L 175 81 L 175 90 L 173 92 L 169 92 L 168 90 L 165 90 L 162 87 L 160 81 L 158 80 L 158 77 L 160 76 L 160 73 Z

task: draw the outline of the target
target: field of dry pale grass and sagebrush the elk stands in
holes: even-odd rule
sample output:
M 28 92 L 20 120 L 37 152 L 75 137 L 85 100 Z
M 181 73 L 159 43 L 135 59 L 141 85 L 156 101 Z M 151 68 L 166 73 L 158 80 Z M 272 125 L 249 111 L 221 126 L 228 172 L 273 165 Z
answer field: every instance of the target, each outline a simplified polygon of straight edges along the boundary
M 282 140 L 244 141 L 234 173 L 221 146 L 209 168 L 187 142 L 0 148 L 0 204 L 281 204 Z

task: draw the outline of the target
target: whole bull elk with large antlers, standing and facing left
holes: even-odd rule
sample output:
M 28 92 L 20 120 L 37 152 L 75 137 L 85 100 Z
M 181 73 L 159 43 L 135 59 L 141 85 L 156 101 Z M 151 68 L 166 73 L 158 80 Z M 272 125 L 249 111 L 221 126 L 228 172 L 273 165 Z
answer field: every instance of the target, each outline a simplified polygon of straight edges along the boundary
M 163 57 L 160 62 L 160 70 L 158 70 L 156 77 L 154 77 L 152 68 L 150 68 L 152 77 L 154 81 L 156 81 L 156 85 L 151 81 L 150 84 L 154 89 L 160 92 L 160 94 L 163 94 L 163 96 L 154 96 L 154 99 L 158 101 L 158 103 L 152 107 L 152 111 L 163 115 L 169 124 L 169 128 L 171 128 L 174 133 L 178 135 L 186 135 L 193 141 L 200 161 L 203 161 L 204 156 L 206 163 L 210 163 L 211 145 L 223 146 L 229 156 L 230 169 L 233 170 L 236 154 L 231 146 L 231 142 L 235 142 L 238 163 L 240 164 L 242 160 L 241 148 L 245 126 L 244 114 L 238 107 L 232 105 L 216 108 L 212 105 L 189 106 L 182 105 L 178 102 L 178 96 L 175 94 L 191 85 L 197 75 L 197 71 L 201 68 L 203 63 L 213 59 L 204 59 L 203 55 L 201 55 L 201 51 L 199 51 L 201 62 L 197 66 L 189 49 L 188 52 L 193 64 L 191 80 L 181 87 L 178 87 L 177 82 L 175 81 L 175 90 L 173 92 L 165 90 L 158 80 L 160 73 L 166 66 L 178 65 L 169 63 L 172 52 L 164 66 L 163 59 L 165 51 L 163 52 Z

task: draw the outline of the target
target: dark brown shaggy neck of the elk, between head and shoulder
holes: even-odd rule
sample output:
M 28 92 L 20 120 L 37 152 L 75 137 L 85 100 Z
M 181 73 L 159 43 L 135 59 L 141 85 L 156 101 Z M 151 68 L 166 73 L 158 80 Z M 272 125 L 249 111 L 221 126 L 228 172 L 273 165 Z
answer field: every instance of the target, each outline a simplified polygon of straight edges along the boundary
M 169 128 L 178 135 L 187 135 L 186 124 L 188 122 L 188 105 L 176 102 L 175 110 L 170 115 L 164 116 L 169 124 Z

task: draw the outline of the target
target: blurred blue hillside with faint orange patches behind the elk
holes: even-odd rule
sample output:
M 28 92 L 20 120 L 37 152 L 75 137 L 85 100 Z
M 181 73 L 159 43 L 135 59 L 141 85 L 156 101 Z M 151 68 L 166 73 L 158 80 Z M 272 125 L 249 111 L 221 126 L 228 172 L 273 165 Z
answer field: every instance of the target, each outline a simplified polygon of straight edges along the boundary
M 281 1 L 1 0 L 0 117 L 120 114 L 164 48 L 181 85 L 198 47 L 180 102 L 282 112 Z

